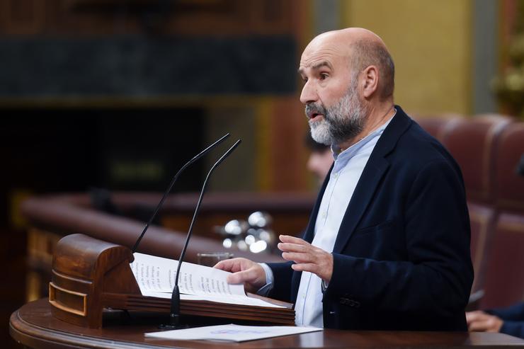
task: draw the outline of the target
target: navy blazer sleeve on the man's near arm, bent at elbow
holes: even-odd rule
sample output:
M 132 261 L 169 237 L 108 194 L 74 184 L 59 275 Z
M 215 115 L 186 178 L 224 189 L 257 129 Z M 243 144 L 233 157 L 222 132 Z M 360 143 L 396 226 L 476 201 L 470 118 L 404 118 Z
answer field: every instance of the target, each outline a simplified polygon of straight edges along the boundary
M 334 253 L 324 293 L 351 297 L 364 307 L 452 316 L 464 311 L 473 280 L 469 216 L 460 171 L 444 159 L 414 176 L 394 232 L 406 241 L 405 261 L 377 261 Z M 351 241 L 349 242 L 351 244 Z

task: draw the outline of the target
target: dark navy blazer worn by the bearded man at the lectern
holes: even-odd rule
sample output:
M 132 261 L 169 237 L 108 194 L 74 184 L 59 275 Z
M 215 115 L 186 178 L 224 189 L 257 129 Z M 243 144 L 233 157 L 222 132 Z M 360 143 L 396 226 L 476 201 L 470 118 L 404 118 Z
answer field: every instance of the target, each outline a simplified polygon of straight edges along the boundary
M 462 174 L 442 144 L 396 108 L 338 230 L 324 327 L 466 331 L 473 268 Z M 328 178 L 304 233 L 308 242 Z M 270 297 L 294 303 L 301 273 L 290 263 L 268 265 Z

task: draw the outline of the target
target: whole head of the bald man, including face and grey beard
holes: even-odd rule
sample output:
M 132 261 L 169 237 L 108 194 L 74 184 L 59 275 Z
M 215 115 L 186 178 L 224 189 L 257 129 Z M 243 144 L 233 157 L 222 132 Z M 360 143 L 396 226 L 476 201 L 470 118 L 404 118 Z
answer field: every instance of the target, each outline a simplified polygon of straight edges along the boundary
M 347 148 L 394 110 L 394 66 L 384 42 L 362 28 L 321 34 L 309 42 L 298 69 L 300 101 L 312 137 Z

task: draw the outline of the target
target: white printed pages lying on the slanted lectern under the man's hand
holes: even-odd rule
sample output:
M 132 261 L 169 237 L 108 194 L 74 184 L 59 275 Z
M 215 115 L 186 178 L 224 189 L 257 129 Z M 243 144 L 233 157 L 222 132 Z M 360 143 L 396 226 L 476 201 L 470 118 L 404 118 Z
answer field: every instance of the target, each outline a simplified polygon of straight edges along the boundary
M 169 258 L 134 253 L 131 270 L 143 296 L 171 298 L 178 261 Z M 227 283 L 227 271 L 193 263 L 182 263 L 178 289 L 181 299 L 208 300 L 211 302 L 283 308 L 282 306 L 250 298 L 244 285 Z

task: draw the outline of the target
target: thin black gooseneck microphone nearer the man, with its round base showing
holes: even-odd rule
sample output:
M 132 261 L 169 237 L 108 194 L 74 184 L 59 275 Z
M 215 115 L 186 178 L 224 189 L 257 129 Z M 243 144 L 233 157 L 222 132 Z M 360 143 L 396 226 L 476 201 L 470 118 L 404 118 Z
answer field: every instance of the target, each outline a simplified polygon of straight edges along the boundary
M 191 219 L 191 224 L 189 225 L 188 235 L 186 236 L 186 241 L 184 242 L 184 246 L 182 248 L 182 252 L 180 253 L 180 258 L 178 258 L 178 266 L 176 268 L 176 275 L 175 275 L 175 286 L 173 287 L 173 293 L 171 294 L 171 314 L 169 314 L 169 324 L 161 324 L 159 328 L 163 330 L 173 330 L 177 328 L 186 328 L 187 326 L 181 326 L 180 325 L 180 290 L 178 289 L 178 275 L 180 274 L 180 267 L 182 265 L 182 261 L 184 256 L 186 256 L 186 250 L 188 248 L 188 242 L 191 238 L 191 233 L 193 232 L 193 224 L 195 223 L 195 219 L 198 216 L 198 212 L 200 211 L 200 204 L 202 203 L 202 198 L 204 197 L 205 188 L 207 187 L 207 180 L 210 178 L 211 173 L 215 171 L 215 168 L 217 168 L 218 165 L 224 161 L 224 159 L 231 154 L 234 149 L 238 147 L 241 140 L 238 139 L 237 142 L 235 142 L 231 148 L 227 149 L 227 151 L 218 159 L 217 162 L 215 162 L 215 165 L 213 165 L 209 172 L 207 172 L 207 176 L 205 177 L 204 184 L 202 185 L 202 190 L 200 190 L 200 197 L 198 198 L 198 202 L 195 208 L 195 212 L 193 213 L 193 219 Z

